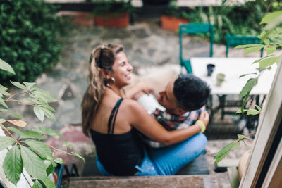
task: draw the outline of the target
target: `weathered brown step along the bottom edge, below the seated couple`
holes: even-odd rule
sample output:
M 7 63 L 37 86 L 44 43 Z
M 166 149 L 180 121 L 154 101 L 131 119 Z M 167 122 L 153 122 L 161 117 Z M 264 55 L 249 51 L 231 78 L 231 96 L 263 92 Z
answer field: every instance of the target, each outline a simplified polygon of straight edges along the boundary
M 69 187 L 219 187 L 214 175 L 71 177 Z

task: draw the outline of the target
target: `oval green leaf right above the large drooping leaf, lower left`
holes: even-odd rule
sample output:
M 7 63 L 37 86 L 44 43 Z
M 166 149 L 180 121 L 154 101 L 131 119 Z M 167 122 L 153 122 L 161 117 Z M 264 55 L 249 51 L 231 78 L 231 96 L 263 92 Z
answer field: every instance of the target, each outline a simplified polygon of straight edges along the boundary
M 54 158 L 52 155 L 53 153 L 49 148 L 49 146 L 47 146 L 43 142 L 34 139 L 27 139 L 23 142 L 25 142 L 28 146 L 30 146 L 30 149 L 32 149 L 32 151 L 35 151 L 35 153 L 39 154 L 41 158 L 48 160 L 52 160 Z

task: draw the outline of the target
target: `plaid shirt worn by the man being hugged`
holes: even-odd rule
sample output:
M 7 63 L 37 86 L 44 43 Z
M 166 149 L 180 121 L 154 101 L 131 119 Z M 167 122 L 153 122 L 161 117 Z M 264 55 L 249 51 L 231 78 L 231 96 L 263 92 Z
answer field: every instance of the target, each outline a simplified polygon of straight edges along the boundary
M 182 130 L 190 125 L 194 125 L 196 120 L 199 118 L 200 113 L 204 111 L 204 106 L 195 111 L 188 111 L 183 115 L 171 115 L 166 111 L 161 111 L 158 108 L 152 114 L 152 117 L 155 118 L 161 125 L 166 128 L 166 130 Z M 145 143 L 150 148 L 161 148 L 164 147 L 164 144 L 156 142 L 152 139 L 149 139 L 143 134 L 140 134 L 142 142 Z

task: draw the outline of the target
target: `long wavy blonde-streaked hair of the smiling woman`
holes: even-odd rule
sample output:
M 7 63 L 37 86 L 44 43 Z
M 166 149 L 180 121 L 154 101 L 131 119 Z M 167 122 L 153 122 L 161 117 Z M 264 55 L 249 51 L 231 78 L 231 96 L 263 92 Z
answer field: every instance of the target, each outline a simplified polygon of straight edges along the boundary
M 91 53 L 89 84 L 81 103 L 82 131 L 87 137 L 89 137 L 90 123 L 97 113 L 105 92 L 107 81 L 102 76 L 101 69 L 112 71 L 115 56 L 120 51 L 123 51 L 121 44 L 108 44 L 98 46 Z

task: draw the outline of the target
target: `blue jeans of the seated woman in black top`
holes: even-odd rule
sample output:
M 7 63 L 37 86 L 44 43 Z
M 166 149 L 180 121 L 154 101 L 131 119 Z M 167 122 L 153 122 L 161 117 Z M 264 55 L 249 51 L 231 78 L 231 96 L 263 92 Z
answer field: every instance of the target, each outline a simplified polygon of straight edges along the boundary
M 138 170 L 136 175 L 175 175 L 180 168 L 200 156 L 206 144 L 207 137 L 197 133 L 178 144 L 145 151 L 141 166 L 135 167 Z M 96 157 L 96 159 L 100 173 L 106 176 L 111 175 L 104 169 L 99 158 Z

